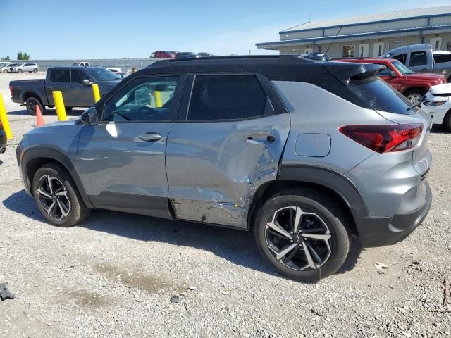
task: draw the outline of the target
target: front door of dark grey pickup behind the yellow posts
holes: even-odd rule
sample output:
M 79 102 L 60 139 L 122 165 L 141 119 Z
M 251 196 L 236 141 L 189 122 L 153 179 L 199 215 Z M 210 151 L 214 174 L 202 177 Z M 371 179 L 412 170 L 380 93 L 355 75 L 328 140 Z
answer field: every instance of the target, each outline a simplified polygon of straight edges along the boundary
M 92 79 L 82 70 L 70 70 L 70 84 L 68 85 L 68 95 L 64 101 L 66 106 L 70 107 L 85 107 L 87 103 L 89 106 L 94 104 L 94 95 L 92 94 L 92 87 L 85 86 L 83 80 L 87 79 L 93 82 Z

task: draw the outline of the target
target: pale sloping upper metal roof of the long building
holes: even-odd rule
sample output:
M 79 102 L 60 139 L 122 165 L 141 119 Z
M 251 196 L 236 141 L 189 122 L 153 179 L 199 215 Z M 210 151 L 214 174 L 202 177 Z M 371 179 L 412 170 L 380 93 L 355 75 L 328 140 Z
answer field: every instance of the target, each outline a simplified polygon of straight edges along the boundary
M 436 15 L 451 15 L 451 6 L 439 6 L 439 7 L 425 7 L 405 9 L 402 11 L 393 11 L 385 13 L 373 13 L 369 15 L 354 16 L 350 18 L 336 18 L 330 20 L 314 21 L 309 23 L 303 23 L 295 27 L 288 28 L 280 32 L 295 32 L 299 30 L 314 30 L 326 27 L 341 27 L 345 25 L 362 25 L 363 23 L 374 23 L 390 20 L 402 20 L 410 18 L 421 18 Z

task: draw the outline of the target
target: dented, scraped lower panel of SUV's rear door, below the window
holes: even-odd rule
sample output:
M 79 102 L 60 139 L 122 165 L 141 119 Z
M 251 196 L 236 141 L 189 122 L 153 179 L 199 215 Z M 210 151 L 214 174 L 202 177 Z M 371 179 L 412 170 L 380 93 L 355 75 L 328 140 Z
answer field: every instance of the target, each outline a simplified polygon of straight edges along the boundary
M 276 180 L 289 128 L 288 113 L 176 124 L 166 150 L 169 198 L 176 217 L 247 227 L 255 192 Z M 276 140 L 266 142 L 266 134 Z

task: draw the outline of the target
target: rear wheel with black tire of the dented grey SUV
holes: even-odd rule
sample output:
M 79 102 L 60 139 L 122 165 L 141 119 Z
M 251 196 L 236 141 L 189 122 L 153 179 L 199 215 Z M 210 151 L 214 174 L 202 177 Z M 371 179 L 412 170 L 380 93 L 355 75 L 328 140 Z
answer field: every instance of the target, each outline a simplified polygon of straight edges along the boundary
M 292 219 L 295 224 L 299 212 L 297 231 L 290 234 L 290 225 L 285 222 Z M 309 188 L 287 189 L 261 206 L 254 234 L 260 252 L 275 270 L 299 282 L 318 282 L 335 273 L 345 262 L 350 250 L 345 219 L 342 208 L 328 195 Z M 274 231 L 274 226 L 280 230 L 274 221 L 283 225 L 285 235 Z M 290 247 L 292 250 L 287 251 Z M 285 255 L 280 256 L 284 251 Z

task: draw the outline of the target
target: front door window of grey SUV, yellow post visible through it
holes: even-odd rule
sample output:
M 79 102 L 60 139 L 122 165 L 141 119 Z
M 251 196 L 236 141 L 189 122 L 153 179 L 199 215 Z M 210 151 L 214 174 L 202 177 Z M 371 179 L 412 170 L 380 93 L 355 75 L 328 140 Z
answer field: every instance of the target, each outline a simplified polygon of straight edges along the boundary
M 138 78 L 127 84 L 104 106 L 103 121 L 159 122 L 175 120 L 175 91 L 179 76 Z

